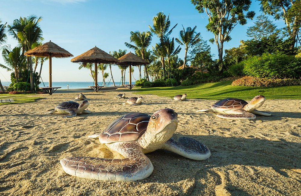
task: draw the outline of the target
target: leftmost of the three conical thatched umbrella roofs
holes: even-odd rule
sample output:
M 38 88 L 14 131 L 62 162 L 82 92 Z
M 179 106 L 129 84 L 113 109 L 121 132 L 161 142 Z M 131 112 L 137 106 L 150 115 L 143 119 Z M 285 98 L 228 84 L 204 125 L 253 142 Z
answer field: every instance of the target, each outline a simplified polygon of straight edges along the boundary
M 70 52 L 67 50 L 61 48 L 57 44 L 51 42 L 51 40 L 47 43 L 44 43 L 41 46 L 38 46 L 34 49 L 28 50 L 27 52 L 24 53 L 27 56 L 49 56 L 51 54 L 53 57 L 57 58 L 67 58 L 70 56 L 73 56 Z

